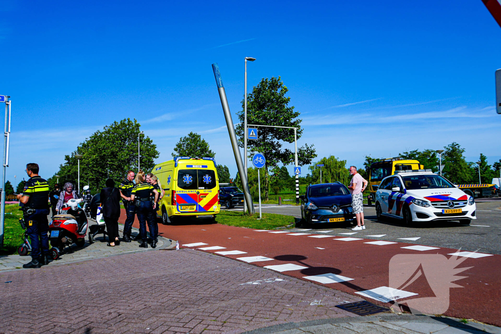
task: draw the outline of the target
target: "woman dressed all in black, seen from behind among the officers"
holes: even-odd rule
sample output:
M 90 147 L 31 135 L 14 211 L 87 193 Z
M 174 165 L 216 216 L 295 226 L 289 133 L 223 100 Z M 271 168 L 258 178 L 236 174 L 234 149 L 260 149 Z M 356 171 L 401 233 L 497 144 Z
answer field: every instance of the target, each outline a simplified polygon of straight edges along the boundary
M 101 190 L 101 212 L 108 231 L 108 246 L 119 245 L 118 218 L 120 217 L 120 191 L 115 188 L 115 181 L 106 180 L 106 188 Z

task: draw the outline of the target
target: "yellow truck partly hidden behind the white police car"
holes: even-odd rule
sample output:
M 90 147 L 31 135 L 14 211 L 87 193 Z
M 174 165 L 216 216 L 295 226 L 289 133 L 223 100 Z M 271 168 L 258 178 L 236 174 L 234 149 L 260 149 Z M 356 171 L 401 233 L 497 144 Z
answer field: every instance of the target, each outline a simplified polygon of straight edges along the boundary
M 369 205 L 375 202 L 376 190 L 381 181 L 393 175 L 396 170 L 419 170 L 424 169 L 424 166 L 417 160 L 405 160 L 399 157 L 381 159 L 380 161 L 373 162 L 369 171 L 369 195 L 367 196 L 367 203 Z

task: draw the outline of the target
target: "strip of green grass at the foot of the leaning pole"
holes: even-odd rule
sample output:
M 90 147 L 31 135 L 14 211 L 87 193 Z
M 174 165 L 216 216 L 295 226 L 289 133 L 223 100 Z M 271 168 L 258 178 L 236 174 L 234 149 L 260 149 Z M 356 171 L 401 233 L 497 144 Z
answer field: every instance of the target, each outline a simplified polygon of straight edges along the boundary
M 286 227 L 291 224 L 294 226 L 296 221 L 292 216 L 284 216 L 275 213 L 263 213 L 263 219 L 258 218 L 259 213 L 249 216 L 241 212 L 221 210 L 216 216 L 216 222 L 221 225 L 271 230 L 277 227 Z

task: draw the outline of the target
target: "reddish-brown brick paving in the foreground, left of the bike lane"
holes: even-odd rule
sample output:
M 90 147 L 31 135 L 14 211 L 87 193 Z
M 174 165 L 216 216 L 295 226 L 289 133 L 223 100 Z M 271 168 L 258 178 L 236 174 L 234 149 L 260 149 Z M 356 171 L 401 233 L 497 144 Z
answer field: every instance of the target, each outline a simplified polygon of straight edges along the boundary
M 0 332 L 243 332 L 355 316 L 347 293 L 202 251 L 156 250 L 0 272 Z

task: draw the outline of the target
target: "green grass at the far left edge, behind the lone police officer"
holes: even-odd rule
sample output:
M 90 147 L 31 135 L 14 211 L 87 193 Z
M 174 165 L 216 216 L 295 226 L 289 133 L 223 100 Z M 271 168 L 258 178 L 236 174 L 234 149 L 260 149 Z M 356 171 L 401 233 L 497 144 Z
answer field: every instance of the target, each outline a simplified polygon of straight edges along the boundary
M 18 247 L 23 243 L 23 229 L 19 223 L 19 218 L 23 218 L 23 211 L 19 211 L 18 204 L 7 204 L 5 212 L 4 247 L 0 248 L 0 255 L 17 254 Z

